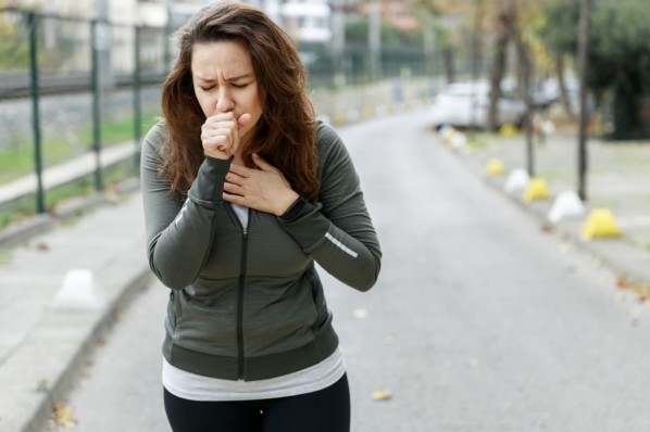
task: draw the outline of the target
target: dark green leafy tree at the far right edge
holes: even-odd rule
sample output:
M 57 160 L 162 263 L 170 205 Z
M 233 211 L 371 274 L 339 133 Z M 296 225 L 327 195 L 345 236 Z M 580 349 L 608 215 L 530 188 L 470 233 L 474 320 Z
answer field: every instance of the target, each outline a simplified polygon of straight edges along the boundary
M 547 40 L 557 53 L 575 58 L 575 23 L 579 0 L 547 0 L 552 21 Z M 587 84 L 611 106 L 612 139 L 650 137 L 650 119 L 641 117 L 650 96 L 650 8 L 647 0 L 599 0 L 590 16 Z

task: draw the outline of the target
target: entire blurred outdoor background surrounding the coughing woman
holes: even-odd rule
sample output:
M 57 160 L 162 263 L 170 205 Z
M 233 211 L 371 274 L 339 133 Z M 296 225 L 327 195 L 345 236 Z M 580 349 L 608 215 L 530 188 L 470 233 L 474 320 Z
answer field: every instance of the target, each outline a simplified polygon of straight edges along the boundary
M 352 430 L 649 431 L 649 0 L 249 2 L 385 253 L 371 295 L 322 272 Z M 166 430 L 139 148 L 210 3 L 0 0 L 0 431 Z

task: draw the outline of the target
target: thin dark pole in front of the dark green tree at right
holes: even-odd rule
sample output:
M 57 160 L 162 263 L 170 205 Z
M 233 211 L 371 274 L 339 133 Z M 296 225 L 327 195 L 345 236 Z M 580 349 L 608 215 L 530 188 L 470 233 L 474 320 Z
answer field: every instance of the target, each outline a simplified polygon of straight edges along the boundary
M 587 200 L 587 68 L 589 67 L 589 15 L 591 0 L 583 0 L 578 35 L 580 116 L 578 124 L 578 196 Z

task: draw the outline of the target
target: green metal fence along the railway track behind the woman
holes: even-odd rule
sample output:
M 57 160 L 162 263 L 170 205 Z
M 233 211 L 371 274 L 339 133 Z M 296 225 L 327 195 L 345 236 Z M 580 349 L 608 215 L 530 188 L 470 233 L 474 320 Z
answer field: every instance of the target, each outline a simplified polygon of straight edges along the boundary
M 137 175 L 175 55 L 171 31 L 0 9 L 0 227 L 8 208 L 47 212 L 67 193 L 57 189 L 91 193 Z M 435 73 L 417 47 L 386 48 L 374 62 L 364 47 L 339 59 L 325 46 L 299 49 L 312 88 Z M 49 178 L 53 167 L 63 173 Z

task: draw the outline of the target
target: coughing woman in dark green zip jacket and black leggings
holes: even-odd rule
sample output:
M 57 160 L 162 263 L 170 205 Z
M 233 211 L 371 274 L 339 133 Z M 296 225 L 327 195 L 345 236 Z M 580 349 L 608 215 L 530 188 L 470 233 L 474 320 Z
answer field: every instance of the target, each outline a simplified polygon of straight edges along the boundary
M 314 263 L 361 291 L 377 279 L 382 253 L 352 162 L 314 117 L 293 43 L 262 12 L 217 3 L 177 39 L 141 170 L 149 262 L 171 289 L 170 423 L 349 431 Z

